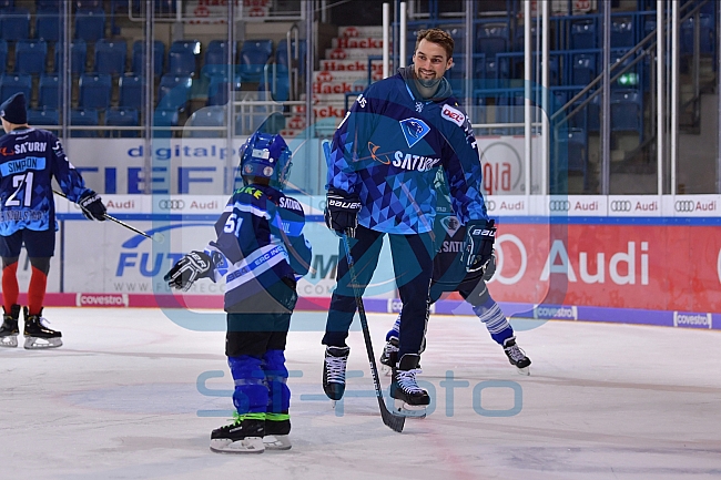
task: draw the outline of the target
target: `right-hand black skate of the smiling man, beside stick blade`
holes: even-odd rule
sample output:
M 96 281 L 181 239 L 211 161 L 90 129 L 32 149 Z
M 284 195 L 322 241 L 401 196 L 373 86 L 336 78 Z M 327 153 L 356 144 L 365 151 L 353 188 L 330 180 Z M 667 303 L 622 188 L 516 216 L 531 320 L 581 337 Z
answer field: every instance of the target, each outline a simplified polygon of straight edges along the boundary
M 420 374 L 419 360 L 419 355 L 406 354 L 393 371 L 390 397 L 395 398 L 396 415 L 415 418 L 426 416 L 426 406 L 430 404 L 430 397 L 416 382 L 416 375 Z

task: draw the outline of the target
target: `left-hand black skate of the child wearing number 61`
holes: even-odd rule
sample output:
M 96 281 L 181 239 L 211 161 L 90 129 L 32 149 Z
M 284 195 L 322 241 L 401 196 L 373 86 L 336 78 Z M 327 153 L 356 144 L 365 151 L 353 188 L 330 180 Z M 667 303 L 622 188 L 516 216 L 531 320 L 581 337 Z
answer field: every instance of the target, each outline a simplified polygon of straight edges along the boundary
M 265 413 L 235 413 L 233 423 L 211 433 L 211 450 L 219 453 L 263 453 Z

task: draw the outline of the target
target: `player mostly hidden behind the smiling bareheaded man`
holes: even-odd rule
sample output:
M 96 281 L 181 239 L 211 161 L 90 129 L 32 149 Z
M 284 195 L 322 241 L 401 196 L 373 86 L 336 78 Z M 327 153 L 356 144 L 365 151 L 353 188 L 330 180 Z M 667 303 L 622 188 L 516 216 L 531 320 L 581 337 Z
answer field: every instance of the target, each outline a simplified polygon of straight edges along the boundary
M 530 375 L 530 358 L 516 345 L 514 328 L 490 296 L 486 285 L 496 272 L 496 256 L 491 256 L 485 268 L 467 272 L 461 262 L 466 227 L 460 225 L 453 214 L 448 187 L 441 172 L 436 177 L 436 193 L 438 197 L 434 233 L 437 253 L 430 282 L 430 303 L 434 304 L 446 292 L 458 292 L 464 300 L 471 305 L 480 321 L 486 325 L 490 337 L 504 348 L 508 361 L 518 369 L 519 374 Z M 386 335 L 386 346 L 380 356 L 380 364 L 386 374 L 390 372 L 392 367 L 398 361 L 399 324 L 400 316 Z

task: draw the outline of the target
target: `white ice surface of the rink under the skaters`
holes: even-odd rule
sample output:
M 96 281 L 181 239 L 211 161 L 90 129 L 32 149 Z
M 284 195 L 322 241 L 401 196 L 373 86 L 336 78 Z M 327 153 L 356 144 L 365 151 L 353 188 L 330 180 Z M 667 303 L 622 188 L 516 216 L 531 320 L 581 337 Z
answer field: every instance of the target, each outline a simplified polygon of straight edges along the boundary
M 209 449 L 232 409 L 224 333 L 186 330 L 158 309 L 44 315 L 64 346 L 0 348 L 2 479 L 721 477 L 719 331 L 539 324 L 518 331 L 532 359 L 524 377 L 476 318 L 431 316 L 419 379 L 435 410 L 396 433 L 378 415 L 360 331 L 348 369 L 363 377 L 334 411 L 321 386 L 325 313 L 296 313 L 293 449 L 229 456 Z M 376 355 L 393 320 L 369 318 Z M 450 376 L 464 382 L 453 397 Z

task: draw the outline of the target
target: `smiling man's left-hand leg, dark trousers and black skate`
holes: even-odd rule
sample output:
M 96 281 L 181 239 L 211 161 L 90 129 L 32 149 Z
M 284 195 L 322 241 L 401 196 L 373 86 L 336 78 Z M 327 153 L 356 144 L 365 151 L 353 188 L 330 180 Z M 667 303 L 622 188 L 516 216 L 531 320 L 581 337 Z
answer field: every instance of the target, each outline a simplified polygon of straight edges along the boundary
M 323 390 L 332 400 L 339 400 L 345 392 L 345 370 L 351 348 L 345 343 L 356 312 L 356 294 L 362 295 L 378 264 L 383 234 L 358 226 L 355 238 L 349 239 L 351 257 L 357 275 L 355 287 L 348 269 L 343 241 L 339 242 L 337 286 L 331 298 L 331 308 L 321 341 L 326 346 L 323 361 Z M 356 289 L 358 290 L 356 293 Z

